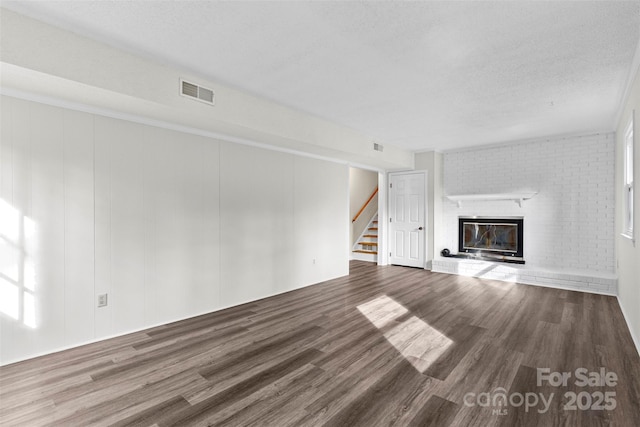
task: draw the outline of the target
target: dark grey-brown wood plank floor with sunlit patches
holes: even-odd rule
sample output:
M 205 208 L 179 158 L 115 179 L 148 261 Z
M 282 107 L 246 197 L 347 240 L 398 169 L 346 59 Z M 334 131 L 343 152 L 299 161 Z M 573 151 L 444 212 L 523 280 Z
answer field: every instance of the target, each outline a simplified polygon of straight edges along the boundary
M 616 385 L 575 384 L 601 367 Z M 538 368 L 571 378 L 538 386 Z M 2 367 L 0 386 L 2 426 L 640 426 L 640 357 L 615 298 L 363 262 Z M 615 409 L 592 407 L 605 392 Z

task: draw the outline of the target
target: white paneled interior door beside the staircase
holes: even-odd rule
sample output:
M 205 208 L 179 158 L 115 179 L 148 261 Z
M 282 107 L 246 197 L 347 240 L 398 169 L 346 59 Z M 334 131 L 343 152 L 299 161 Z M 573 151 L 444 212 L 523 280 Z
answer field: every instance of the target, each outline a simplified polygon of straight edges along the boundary
M 389 262 L 424 268 L 424 172 L 389 174 Z

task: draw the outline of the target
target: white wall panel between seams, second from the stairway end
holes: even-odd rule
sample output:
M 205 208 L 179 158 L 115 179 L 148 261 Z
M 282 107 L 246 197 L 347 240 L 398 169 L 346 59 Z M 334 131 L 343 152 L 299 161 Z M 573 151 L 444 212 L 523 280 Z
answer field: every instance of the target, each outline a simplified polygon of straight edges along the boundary
M 292 155 L 220 146 L 220 296 L 235 305 L 291 289 Z

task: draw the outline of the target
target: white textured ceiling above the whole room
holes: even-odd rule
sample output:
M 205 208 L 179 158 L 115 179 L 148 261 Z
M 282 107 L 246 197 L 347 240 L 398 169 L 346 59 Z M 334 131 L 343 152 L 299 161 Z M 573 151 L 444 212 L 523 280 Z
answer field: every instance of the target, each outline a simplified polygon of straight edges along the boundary
M 640 36 L 638 1 L 2 6 L 415 151 L 612 130 Z

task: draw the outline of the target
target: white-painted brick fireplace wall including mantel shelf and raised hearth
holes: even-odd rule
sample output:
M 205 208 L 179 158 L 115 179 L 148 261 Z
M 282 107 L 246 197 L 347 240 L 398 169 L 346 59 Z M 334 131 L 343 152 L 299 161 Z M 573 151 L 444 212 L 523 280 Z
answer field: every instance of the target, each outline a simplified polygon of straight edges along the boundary
M 435 230 L 435 254 L 461 252 L 460 218 L 515 216 L 526 219 L 524 240 L 519 240 L 526 265 L 477 256 L 474 250 L 481 248 L 470 246 L 481 242 L 475 241 L 463 245 L 464 258 L 434 256 L 432 270 L 615 295 L 614 154 L 611 133 L 444 153 L 446 197 Z M 528 200 L 511 197 L 527 192 L 537 194 Z M 512 250 L 511 243 L 507 238 L 502 246 Z

